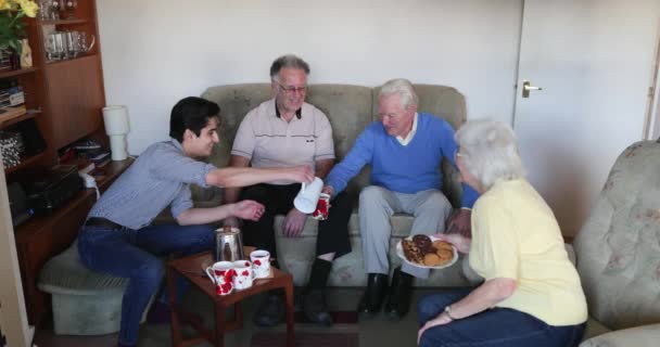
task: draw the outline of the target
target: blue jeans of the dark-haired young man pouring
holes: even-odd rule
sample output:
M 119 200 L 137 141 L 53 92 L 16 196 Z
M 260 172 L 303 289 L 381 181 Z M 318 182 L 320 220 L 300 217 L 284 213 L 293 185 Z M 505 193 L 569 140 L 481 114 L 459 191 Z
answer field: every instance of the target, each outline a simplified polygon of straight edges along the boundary
M 119 343 L 136 345 L 140 319 L 150 298 L 157 292 L 165 268 L 158 256 L 170 253 L 191 255 L 208 250 L 214 244 L 211 226 L 149 226 L 128 228 L 82 227 L 78 234 L 80 260 L 89 269 L 128 278 L 122 299 Z

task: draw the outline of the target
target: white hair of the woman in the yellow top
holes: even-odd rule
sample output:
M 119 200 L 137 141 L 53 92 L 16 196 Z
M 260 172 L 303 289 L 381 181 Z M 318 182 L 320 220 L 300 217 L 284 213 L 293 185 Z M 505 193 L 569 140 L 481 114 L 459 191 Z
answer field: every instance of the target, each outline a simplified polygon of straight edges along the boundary
M 525 176 L 516 145 L 516 134 L 508 125 L 492 120 L 470 120 L 455 136 L 466 169 L 486 190 L 498 180 Z

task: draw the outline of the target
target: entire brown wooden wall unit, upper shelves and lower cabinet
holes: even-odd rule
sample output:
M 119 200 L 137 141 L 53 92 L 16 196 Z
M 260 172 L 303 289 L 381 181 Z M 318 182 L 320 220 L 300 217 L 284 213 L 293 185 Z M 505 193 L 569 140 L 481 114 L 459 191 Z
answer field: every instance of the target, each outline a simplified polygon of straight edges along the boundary
M 23 87 L 25 106 L 29 113 L 0 121 L 0 130 L 34 119 L 46 142 L 38 154 L 23 157 L 18 166 L 5 169 L 9 181 L 21 177 L 25 169 L 49 167 L 58 163 L 58 151 L 86 137 L 104 144 L 101 108 L 105 105 L 101 50 L 94 0 L 78 0 L 75 18 L 40 21 L 25 18 L 27 38 L 33 50 L 34 66 L 0 72 L 0 79 L 16 78 Z M 96 44 L 76 57 L 49 61 L 45 39 L 58 31 L 84 31 Z M 29 120 L 33 121 L 33 120 Z M 131 160 L 113 162 L 104 169 L 101 189 L 125 170 Z M 41 267 L 48 259 L 64 250 L 76 237 L 78 228 L 96 202 L 96 192 L 85 190 L 50 216 L 35 217 L 17 227 L 16 250 L 30 324 L 39 323 L 49 309 L 49 296 L 37 288 Z

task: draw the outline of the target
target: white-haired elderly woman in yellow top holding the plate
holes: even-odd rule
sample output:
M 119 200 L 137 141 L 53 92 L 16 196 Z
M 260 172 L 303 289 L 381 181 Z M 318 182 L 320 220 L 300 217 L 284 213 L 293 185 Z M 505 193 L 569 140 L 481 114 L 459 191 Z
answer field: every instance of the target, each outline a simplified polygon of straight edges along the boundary
M 587 319 L 580 278 L 553 211 L 524 179 L 513 131 L 475 120 L 456 141 L 462 180 L 482 195 L 471 240 L 436 236 L 469 253 L 484 282 L 422 298 L 419 346 L 578 346 Z

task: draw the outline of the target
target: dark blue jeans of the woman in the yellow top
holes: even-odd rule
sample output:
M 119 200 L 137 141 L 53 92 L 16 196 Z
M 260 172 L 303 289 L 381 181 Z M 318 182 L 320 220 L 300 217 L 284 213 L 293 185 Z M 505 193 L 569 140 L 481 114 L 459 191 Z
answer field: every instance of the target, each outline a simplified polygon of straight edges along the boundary
M 466 297 L 472 290 L 455 290 L 423 297 L 417 305 L 419 326 L 442 313 L 445 306 Z M 548 325 L 518 310 L 493 308 L 427 330 L 421 336 L 419 346 L 572 347 L 578 346 L 582 340 L 584 327 L 585 323 L 566 326 Z

